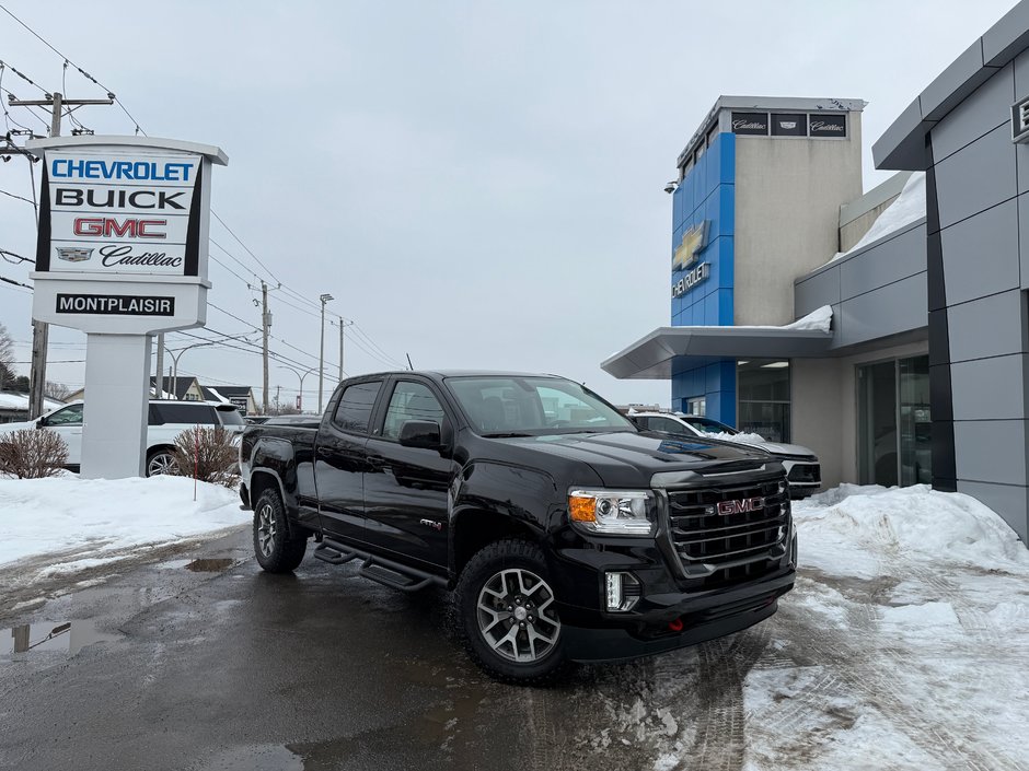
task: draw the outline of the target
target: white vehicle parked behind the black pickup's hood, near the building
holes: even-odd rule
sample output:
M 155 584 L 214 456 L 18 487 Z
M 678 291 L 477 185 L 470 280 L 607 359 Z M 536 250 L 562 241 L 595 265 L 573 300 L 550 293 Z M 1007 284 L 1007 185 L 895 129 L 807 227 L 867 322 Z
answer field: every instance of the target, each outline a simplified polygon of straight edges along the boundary
M 680 436 L 710 436 L 748 447 L 756 447 L 772 455 L 786 468 L 790 498 L 803 498 L 822 487 L 822 467 L 818 456 L 799 444 L 768 442 L 758 434 L 743 434 L 710 418 L 683 412 L 629 412 L 636 424 L 649 431 L 663 431 Z

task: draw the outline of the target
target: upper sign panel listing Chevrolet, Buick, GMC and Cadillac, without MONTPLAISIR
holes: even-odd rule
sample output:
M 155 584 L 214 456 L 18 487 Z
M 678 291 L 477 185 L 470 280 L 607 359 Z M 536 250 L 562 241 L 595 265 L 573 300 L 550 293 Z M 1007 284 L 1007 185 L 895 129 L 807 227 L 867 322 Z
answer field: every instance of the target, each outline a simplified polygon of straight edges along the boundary
M 199 155 L 46 153 L 38 271 L 197 276 Z

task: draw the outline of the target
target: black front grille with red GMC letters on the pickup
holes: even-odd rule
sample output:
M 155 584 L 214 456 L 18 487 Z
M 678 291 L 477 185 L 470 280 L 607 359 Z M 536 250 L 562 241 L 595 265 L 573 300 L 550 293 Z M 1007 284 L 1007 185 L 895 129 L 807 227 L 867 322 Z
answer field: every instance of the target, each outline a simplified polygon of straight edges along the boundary
M 785 556 L 789 492 L 773 479 L 738 487 L 670 490 L 671 535 L 683 571 L 704 586 L 770 572 Z

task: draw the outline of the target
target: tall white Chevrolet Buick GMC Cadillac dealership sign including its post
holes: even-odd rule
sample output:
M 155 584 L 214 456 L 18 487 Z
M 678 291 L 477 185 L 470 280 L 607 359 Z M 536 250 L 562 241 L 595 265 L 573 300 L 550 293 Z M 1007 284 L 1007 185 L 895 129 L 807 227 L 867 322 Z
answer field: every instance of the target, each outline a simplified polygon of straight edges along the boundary
M 152 336 L 207 322 L 210 177 L 219 148 L 54 137 L 42 150 L 32 315 L 86 334 L 81 475 L 143 475 Z

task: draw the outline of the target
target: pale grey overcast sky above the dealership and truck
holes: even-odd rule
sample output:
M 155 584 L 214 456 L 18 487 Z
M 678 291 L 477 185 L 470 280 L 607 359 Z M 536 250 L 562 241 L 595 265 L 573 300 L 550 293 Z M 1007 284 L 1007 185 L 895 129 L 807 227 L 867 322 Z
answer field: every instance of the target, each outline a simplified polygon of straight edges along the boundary
M 662 188 L 718 96 L 866 100 L 868 189 L 888 176 L 872 168 L 875 140 L 1015 4 L 0 3 L 115 92 L 148 135 L 228 153 L 212 208 L 265 267 L 213 220 L 231 253 L 211 248 L 228 266 L 210 267 L 221 309 L 192 334 L 253 331 L 259 291 L 247 283 L 264 279 L 285 287 L 270 293 L 271 350 L 297 369 L 317 366 L 327 292 L 327 318 L 356 322 L 349 374 L 409 354 L 416 369 L 553 372 L 618 404 L 662 405 L 667 382 L 616 381 L 600 362 L 669 324 Z M 47 91 L 104 95 L 74 68 L 62 80 L 63 58 L 2 10 L 0 59 Z M 41 95 L 10 69 L 2 87 Z M 27 108 L 9 110 L 45 132 Z M 76 116 L 97 135 L 136 126 L 118 106 Z M 24 160 L 0 164 L 0 190 L 32 198 Z M 3 195 L 0 248 L 35 249 L 32 206 Z M 5 278 L 31 283 L 28 270 L 0 261 Z M 0 283 L 0 323 L 27 374 L 31 293 Z M 329 384 L 337 329 L 326 326 Z M 54 327 L 50 341 L 48 378 L 78 387 L 84 335 Z M 170 348 L 195 342 L 169 336 Z M 259 388 L 261 357 L 198 348 L 180 374 Z M 304 381 L 305 407 L 316 381 Z M 273 365 L 273 397 L 280 386 L 292 401 L 298 383 Z

